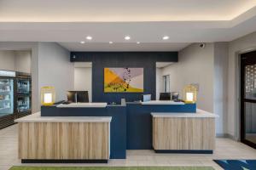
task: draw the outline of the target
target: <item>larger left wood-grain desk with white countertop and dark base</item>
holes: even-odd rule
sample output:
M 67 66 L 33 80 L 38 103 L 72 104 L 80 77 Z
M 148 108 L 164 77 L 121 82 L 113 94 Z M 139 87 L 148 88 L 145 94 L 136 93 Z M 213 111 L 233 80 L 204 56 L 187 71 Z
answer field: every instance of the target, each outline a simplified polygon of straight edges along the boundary
M 22 162 L 108 162 L 111 116 L 40 116 L 17 119 Z

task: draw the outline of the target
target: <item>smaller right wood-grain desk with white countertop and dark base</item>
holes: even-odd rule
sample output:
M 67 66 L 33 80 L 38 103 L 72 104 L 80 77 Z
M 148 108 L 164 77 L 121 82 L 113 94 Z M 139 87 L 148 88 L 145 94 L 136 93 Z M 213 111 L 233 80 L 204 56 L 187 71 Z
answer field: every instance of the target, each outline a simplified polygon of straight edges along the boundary
M 152 113 L 153 147 L 159 153 L 205 153 L 215 149 L 215 118 L 207 111 Z

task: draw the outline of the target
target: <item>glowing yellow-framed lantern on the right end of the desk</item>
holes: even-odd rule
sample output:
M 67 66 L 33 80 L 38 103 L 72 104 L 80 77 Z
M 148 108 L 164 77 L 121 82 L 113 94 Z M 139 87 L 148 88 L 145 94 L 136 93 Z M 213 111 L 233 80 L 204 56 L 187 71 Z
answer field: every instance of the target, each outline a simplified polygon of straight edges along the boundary
M 197 88 L 192 85 L 188 85 L 183 88 L 183 100 L 186 104 L 195 104 L 196 103 L 196 95 L 197 95 Z

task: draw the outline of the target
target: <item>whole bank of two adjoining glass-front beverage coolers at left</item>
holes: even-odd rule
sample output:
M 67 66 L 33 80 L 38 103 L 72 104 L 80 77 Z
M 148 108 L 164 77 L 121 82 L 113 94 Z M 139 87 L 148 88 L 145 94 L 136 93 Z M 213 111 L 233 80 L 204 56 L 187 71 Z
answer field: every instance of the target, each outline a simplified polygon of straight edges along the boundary
M 15 123 L 15 118 L 31 114 L 31 76 L 15 71 L 0 71 L 0 129 Z

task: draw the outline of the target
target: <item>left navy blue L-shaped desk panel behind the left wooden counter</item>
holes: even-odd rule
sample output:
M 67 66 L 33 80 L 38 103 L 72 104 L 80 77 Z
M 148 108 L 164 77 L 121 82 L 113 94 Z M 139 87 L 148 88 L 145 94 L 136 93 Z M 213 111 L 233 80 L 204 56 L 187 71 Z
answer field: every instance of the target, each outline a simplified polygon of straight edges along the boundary
M 110 122 L 110 159 L 126 158 L 126 107 L 108 105 L 106 108 L 57 108 L 42 106 L 41 116 L 112 116 Z

